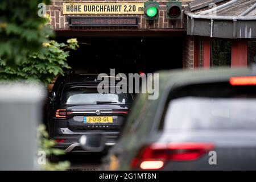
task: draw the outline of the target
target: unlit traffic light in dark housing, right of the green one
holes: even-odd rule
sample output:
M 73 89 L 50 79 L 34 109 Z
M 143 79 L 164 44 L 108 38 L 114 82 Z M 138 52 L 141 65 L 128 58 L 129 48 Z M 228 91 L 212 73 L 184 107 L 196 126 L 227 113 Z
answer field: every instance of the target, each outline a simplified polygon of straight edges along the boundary
M 179 1 L 166 2 L 166 19 L 180 20 L 182 13 L 182 5 Z

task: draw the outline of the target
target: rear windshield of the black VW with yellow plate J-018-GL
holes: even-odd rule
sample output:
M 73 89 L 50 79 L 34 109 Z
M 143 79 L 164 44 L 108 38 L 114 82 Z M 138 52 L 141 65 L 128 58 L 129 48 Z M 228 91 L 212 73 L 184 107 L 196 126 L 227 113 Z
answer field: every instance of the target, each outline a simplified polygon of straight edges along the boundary
M 130 93 L 98 93 L 97 87 L 64 89 L 61 104 L 131 104 Z

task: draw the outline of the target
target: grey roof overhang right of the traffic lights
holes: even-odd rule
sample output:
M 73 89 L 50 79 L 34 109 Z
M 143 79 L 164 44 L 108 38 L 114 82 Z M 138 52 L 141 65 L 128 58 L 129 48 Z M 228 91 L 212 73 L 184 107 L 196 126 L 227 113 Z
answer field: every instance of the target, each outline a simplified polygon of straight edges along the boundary
M 256 16 L 252 16 L 250 13 L 255 11 L 256 3 L 236 16 L 219 15 L 221 13 L 218 13 L 223 9 L 226 11 L 229 6 L 236 6 L 238 2 L 239 0 L 229 1 L 197 14 L 185 11 L 184 13 L 187 15 L 187 35 L 228 39 L 255 39 Z

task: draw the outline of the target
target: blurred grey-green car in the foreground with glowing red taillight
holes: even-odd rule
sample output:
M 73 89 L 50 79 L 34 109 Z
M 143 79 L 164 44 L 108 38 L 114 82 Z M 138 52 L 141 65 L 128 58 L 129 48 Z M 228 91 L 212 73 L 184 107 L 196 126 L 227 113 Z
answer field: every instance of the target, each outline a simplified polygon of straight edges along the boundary
M 255 170 L 255 75 L 224 68 L 160 72 L 159 98 L 137 96 L 101 169 Z

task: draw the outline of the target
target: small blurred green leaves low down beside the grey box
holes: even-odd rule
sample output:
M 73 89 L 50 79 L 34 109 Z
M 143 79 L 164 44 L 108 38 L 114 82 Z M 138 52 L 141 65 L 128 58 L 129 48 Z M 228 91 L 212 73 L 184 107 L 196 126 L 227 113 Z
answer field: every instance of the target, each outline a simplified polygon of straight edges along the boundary
M 65 152 L 63 150 L 53 148 L 56 142 L 55 140 L 49 140 L 49 135 L 46 131 L 46 126 L 39 125 L 38 126 L 38 150 L 46 152 L 46 156 L 49 155 L 64 155 Z M 40 167 L 43 170 L 47 171 L 56 171 L 56 170 L 66 170 L 70 166 L 70 162 L 61 161 L 59 163 L 51 163 L 48 159 L 46 159 L 46 164 L 42 164 Z

